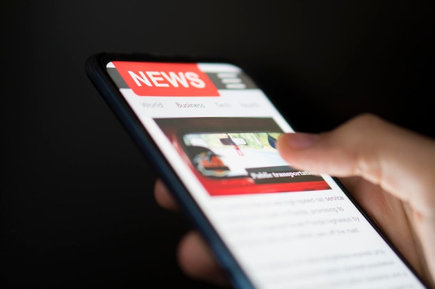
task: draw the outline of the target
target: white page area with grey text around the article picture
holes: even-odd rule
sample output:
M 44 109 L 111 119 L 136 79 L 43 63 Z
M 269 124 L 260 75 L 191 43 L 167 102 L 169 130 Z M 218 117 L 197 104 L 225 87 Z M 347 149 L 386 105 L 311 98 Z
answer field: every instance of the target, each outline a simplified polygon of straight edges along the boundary
M 199 67 L 204 72 L 239 71 L 231 65 Z M 222 89 L 219 97 L 143 97 L 131 89 L 120 90 L 256 288 L 424 288 L 331 177 L 322 175 L 331 186 L 327 191 L 212 197 L 153 120 L 269 117 L 284 132 L 293 132 L 263 91 Z M 146 107 L 144 102 L 160 107 Z

